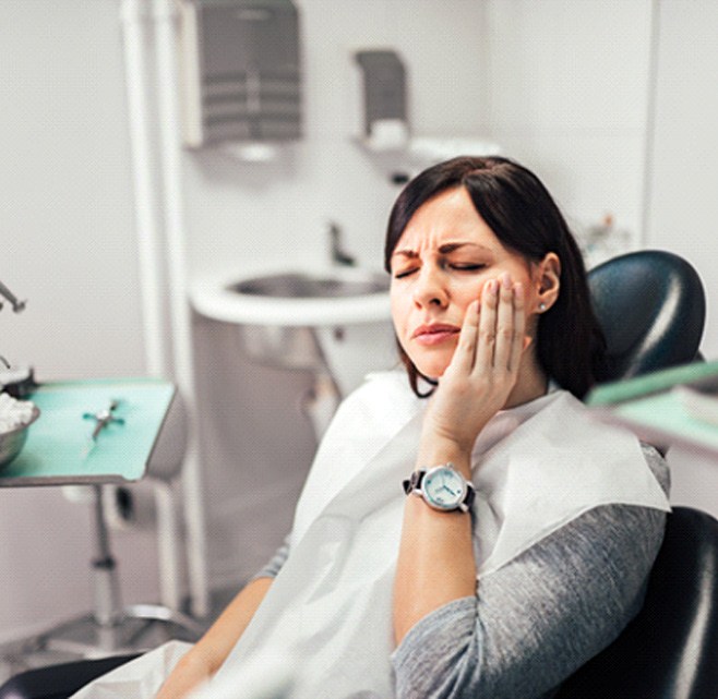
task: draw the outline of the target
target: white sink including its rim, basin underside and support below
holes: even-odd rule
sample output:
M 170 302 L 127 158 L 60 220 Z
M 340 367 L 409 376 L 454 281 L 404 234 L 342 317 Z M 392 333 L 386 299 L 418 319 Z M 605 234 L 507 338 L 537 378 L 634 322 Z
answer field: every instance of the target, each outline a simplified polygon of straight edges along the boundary
M 250 361 L 314 374 L 302 406 L 319 439 L 342 396 L 396 364 L 388 284 L 383 270 L 285 264 L 195 279 L 190 300 L 236 326 Z

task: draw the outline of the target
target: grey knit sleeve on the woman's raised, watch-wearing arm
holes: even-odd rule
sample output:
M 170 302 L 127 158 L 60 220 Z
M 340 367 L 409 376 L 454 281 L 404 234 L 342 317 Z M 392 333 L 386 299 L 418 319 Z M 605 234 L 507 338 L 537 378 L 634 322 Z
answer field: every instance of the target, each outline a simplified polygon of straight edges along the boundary
M 665 461 L 646 458 L 668 487 Z M 550 697 L 613 641 L 643 604 L 666 515 L 596 507 L 435 610 L 392 662 L 398 699 Z

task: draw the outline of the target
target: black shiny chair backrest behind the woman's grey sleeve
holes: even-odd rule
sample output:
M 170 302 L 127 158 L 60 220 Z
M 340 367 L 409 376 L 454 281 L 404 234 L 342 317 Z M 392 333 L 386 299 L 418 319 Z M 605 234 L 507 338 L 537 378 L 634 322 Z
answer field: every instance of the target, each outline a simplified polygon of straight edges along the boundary
M 718 521 L 668 516 L 642 611 L 562 686 L 557 699 L 718 697 Z

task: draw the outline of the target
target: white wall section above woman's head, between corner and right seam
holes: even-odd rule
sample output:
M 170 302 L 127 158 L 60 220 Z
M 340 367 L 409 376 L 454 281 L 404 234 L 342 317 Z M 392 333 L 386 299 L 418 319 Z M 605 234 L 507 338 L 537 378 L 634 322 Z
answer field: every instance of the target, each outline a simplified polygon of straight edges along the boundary
M 489 128 L 578 229 L 612 214 L 637 239 L 650 0 L 489 0 Z

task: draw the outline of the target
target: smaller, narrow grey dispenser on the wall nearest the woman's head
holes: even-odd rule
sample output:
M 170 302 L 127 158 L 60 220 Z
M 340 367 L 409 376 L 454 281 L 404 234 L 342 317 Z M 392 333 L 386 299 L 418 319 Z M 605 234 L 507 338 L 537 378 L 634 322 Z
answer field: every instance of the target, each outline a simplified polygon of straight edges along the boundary
M 406 70 L 391 50 L 366 50 L 355 55 L 363 74 L 363 134 L 372 150 L 403 148 L 409 138 Z

